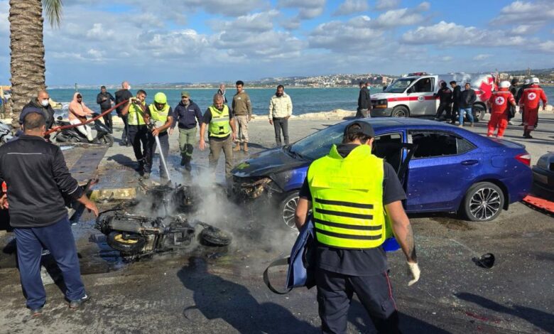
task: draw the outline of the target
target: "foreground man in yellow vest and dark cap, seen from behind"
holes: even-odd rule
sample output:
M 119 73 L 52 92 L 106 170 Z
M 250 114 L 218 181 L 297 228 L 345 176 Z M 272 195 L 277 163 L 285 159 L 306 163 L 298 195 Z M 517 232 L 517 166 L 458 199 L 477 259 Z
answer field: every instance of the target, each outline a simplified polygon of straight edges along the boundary
M 300 190 L 296 226 L 304 225 L 311 208 L 323 333 L 346 333 L 353 293 L 379 333 L 399 333 L 382 247 L 389 237 L 386 225 L 406 254 L 412 276 L 408 285 L 419 279 L 413 232 L 401 202 L 406 194 L 391 165 L 371 154 L 374 137 L 369 123 L 349 124 L 342 144 L 333 145 L 327 156 L 310 165 Z

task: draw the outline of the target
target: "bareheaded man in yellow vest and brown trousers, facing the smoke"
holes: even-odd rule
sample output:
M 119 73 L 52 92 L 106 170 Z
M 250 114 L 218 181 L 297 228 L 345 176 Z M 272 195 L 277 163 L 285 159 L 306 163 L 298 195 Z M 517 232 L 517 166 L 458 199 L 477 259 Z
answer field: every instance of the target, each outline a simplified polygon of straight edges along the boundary
M 208 129 L 208 144 L 210 144 L 210 168 L 215 172 L 219 154 L 223 150 L 225 154 L 225 176 L 231 176 L 231 168 L 233 167 L 233 141 L 237 134 L 235 124 L 233 122 L 233 114 L 229 112 L 227 104 L 223 103 L 223 95 L 214 95 L 214 104 L 212 104 L 202 117 L 202 125 L 200 125 L 200 151 L 204 151 L 206 143 L 204 134 Z

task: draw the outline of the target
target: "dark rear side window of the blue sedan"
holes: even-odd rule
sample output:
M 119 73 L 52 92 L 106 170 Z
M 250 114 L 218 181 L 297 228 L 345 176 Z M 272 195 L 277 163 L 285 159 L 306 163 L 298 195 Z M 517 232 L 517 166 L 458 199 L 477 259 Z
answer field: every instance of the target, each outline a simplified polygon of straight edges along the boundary
M 418 146 L 413 158 L 455 156 L 475 148 L 469 141 L 450 132 L 411 131 L 410 134 L 411 142 Z

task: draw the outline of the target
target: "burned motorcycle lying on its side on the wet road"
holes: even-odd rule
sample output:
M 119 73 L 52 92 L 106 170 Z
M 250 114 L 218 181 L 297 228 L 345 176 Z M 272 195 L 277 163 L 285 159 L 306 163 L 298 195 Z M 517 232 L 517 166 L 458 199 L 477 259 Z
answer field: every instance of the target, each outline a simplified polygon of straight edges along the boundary
M 109 247 L 121 252 L 121 257 L 127 260 L 190 249 L 195 239 L 208 247 L 228 246 L 232 240 L 226 232 L 204 222 L 191 225 L 184 215 L 150 218 L 109 210 L 98 216 L 95 227 L 107 235 Z

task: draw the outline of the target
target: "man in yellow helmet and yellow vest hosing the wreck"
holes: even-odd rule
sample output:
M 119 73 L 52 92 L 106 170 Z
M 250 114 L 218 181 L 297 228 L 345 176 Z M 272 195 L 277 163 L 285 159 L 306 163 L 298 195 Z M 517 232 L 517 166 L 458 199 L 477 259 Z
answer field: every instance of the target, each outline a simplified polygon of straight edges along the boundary
M 147 114 L 150 117 L 150 122 L 161 122 L 161 125 L 156 127 L 158 124 L 153 123 L 152 128 L 152 137 L 151 137 L 151 149 L 150 156 L 147 160 L 150 161 L 152 165 L 152 157 L 156 152 L 156 139 L 158 136 L 160 139 L 161 151 L 165 161 L 168 159 L 169 154 L 169 134 L 168 129 L 173 124 L 173 110 L 168 104 L 168 97 L 163 94 L 163 92 L 158 92 L 154 95 L 154 103 L 150 104 L 147 109 Z M 165 168 L 163 168 L 163 163 L 160 158 L 160 178 L 161 183 L 167 183 L 168 175 L 165 173 Z

